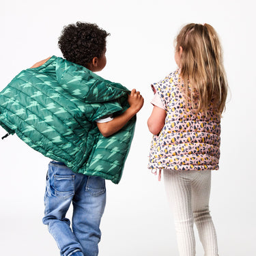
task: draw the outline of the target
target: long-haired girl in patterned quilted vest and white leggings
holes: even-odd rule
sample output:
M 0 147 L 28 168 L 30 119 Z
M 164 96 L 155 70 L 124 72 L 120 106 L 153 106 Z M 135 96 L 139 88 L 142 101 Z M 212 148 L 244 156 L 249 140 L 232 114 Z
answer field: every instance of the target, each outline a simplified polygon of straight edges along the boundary
M 154 109 L 147 125 L 154 137 L 149 169 L 163 170 L 180 255 L 195 255 L 195 222 L 205 256 L 216 256 L 208 203 L 227 98 L 221 44 L 208 24 L 186 25 L 175 44 L 178 69 L 152 85 Z

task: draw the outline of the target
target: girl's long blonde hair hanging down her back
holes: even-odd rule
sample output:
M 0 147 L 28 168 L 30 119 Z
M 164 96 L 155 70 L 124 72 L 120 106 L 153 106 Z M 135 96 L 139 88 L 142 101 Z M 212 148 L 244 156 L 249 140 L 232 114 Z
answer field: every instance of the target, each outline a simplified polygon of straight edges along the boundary
M 197 113 L 200 110 L 207 113 L 213 104 L 221 114 L 225 109 L 228 85 L 216 31 L 208 24 L 190 23 L 181 29 L 175 41 L 177 53 L 182 47 L 180 76 L 193 109 Z

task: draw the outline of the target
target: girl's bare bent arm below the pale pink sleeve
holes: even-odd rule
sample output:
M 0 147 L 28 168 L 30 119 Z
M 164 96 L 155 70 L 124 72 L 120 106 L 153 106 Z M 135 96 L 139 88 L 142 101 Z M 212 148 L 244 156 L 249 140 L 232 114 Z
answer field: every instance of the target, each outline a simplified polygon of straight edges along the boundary
M 158 106 L 154 106 L 150 118 L 147 120 L 147 127 L 150 132 L 157 135 L 165 125 L 166 112 Z

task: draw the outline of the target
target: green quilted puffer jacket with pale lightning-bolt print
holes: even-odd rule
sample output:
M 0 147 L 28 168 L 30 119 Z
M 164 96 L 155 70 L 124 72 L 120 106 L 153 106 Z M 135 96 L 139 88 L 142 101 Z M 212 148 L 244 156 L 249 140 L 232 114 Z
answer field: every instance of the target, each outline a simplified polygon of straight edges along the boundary
M 0 93 L 0 125 L 72 171 L 117 184 L 136 117 L 103 137 L 95 120 L 128 109 L 128 89 L 60 57 L 20 72 Z

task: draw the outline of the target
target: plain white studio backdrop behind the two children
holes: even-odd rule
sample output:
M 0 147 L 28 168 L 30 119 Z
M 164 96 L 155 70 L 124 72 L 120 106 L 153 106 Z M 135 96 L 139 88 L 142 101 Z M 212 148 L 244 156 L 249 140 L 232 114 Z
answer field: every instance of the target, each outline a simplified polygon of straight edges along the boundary
M 97 23 L 111 33 L 108 62 L 98 74 L 138 89 L 145 98 L 122 181 L 106 184 L 100 255 L 178 255 L 163 182 L 147 170 L 152 136 L 146 122 L 152 111 L 150 83 L 176 68 L 173 39 L 185 23 L 210 23 L 218 31 L 231 89 L 222 120 L 220 171 L 213 172 L 210 201 L 220 255 L 255 255 L 253 1 L 3 0 L 0 89 L 20 70 L 51 55 L 61 56 L 59 33 L 77 20 Z M 47 164 L 47 158 L 16 135 L 0 141 L 1 255 L 59 255 L 41 221 Z M 203 255 L 198 238 L 197 251 Z

